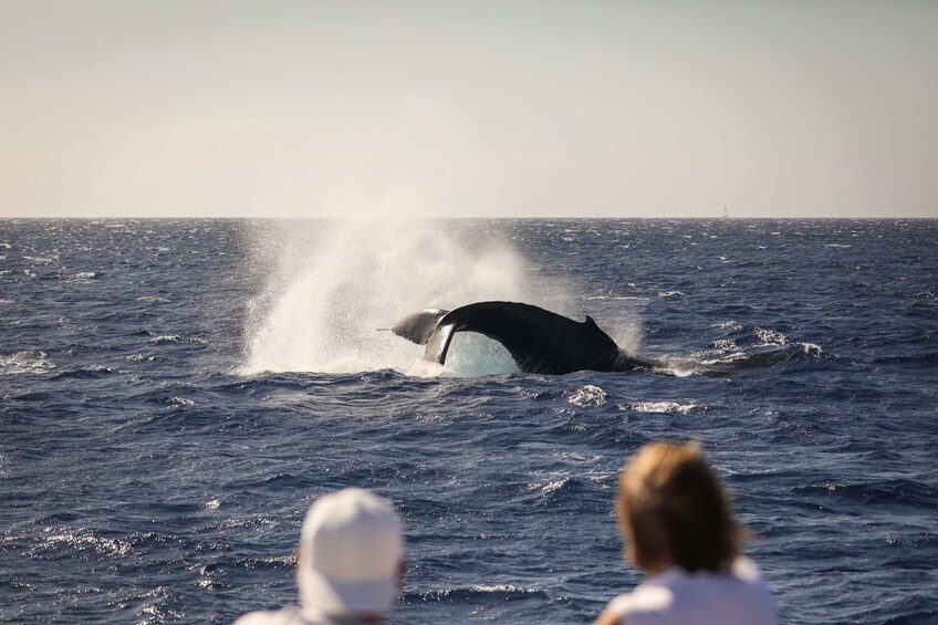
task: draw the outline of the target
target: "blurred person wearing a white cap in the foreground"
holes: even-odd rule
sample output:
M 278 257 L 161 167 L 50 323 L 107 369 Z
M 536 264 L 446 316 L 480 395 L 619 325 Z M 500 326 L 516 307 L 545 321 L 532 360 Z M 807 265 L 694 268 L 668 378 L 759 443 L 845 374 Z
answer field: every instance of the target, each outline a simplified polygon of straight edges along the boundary
M 300 605 L 251 612 L 234 625 L 378 623 L 397 602 L 404 566 L 404 531 L 389 501 L 361 488 L 320 497 L 300 535 Z

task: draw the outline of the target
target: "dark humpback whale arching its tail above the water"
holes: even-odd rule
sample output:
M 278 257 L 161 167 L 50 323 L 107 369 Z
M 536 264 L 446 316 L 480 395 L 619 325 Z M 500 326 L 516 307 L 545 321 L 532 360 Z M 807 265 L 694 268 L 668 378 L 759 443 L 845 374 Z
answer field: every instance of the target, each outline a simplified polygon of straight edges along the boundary
M 581 322 L 521 302 L 426 309 L 399 320 L 390 331 L 425 345 L 424 360 L 441 365 L 457 332 L 475 332 L 499 342 L 523 373 L 625 372 L 654 365 L 626 355 L 588 315 Z

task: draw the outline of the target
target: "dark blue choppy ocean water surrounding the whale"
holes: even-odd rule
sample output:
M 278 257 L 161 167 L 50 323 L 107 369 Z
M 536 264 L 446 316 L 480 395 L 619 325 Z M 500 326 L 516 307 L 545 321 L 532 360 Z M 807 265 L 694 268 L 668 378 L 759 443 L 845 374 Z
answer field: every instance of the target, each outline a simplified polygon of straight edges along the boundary
M 407 525 L 393 623 L 585 623 L 640 580 L 616 473 L 669 438 L 783 622 L 936 623 L 937 295 L 935 220 L 0 220 L 0 621 L 294 602 L 305 508 L 361 486 Z M 668 365 L 521 375 L 468 341 L 428 375 L 375 332 L 473 299 Z

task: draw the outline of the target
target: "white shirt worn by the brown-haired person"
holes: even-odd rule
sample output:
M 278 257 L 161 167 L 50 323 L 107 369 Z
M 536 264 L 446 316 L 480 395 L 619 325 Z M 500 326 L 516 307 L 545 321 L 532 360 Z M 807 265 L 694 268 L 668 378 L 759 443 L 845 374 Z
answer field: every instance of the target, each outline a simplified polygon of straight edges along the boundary
M 739 558 L 727 573 L 679 566 L 648 577 L 609 602 L 623 625 L 777 625 L 775 602 L 759 567 Z

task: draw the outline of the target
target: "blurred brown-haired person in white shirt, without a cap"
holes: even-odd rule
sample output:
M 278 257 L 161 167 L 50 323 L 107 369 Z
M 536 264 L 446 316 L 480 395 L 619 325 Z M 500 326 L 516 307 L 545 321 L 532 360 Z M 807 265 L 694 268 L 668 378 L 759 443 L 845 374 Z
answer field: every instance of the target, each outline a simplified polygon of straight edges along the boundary
M 619 477 L 626 555 L 648 579 L 606 605 L 596 625 L 774 625 L 775 604 L 740 553 L 743 528 L 696 445 L 653 442 Z

